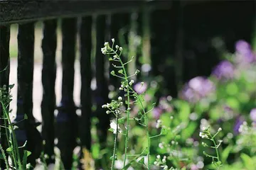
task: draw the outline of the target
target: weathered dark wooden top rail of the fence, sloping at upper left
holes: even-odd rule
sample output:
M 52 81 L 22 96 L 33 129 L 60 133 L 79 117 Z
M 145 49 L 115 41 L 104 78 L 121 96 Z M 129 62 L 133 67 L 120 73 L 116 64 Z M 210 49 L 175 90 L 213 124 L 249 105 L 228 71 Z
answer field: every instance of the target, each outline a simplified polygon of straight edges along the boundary
M 131 11 L 144 4 L 171 5 L 171 1 L 0 1 L 0 25 L 47 18 L 74 17 L 91 13 Z

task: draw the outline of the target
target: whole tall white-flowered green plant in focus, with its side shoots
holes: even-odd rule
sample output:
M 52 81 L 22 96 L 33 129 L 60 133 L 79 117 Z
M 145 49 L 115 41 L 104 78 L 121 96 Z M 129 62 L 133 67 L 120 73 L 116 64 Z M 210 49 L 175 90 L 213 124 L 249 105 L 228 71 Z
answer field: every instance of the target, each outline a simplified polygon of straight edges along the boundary
M 105 47 L 102 47 L 102 53 L 104 55 L 108 55 L 109 60 L 111 62 L 114 62 L 112 66 L 116 69 L 119 69 L 117 72 L 110 72 L 112 76 L 118 77 L 121 79 L 121 86 L 119 87 L 119 91 L 124 91 L 126 94 L 124 94 L 124 98 L 122 96 L 119 96 L 117 100 L 112 100 L 111 103 L 107 103 L 102 106 L 102 108 L 107 108 L 107 114 L 112 113 L 115 117 L 115 120 L 112 120 L 110 123 L 110 131 L 114 133 L 114 150 L 113 150 L 113 155 L 111 157 L 112 159 L 112 165 L 111 169 L 114 169 L 114 162 L 117 159 L 117 137 L 118 133 L 124 135 L 124 162 L 123 162 L 123 169 L 127 169 L 132 162 L 134 162 L 136 159 L 137 162 L 140 164 L 144 164 L 146 166 L 146 169 L 150 169 L 151 162 L 150 162 L 150 146 L 151 146 L 151 139 L 154 137 L 158 137 L 159 135 L 163 135 L 163 132 L 159 135 L 156 136 L 150 136 L 149 135 L 149 118 L 148 118 L 148 113 L 152 110 L 146 111 L 145 106 L 144 106 L 144 95 L 145 91 L 142 94 L 138 94 L 134 89 L 133 89 L 133 84 L 134 80 L 131 79 L 132 77 L 136 76 L 139 74 L 139 70 L 137 69 L 134 74 L 128 75 L 127 74 L 127 69 L 126 65 L 132 62 L 134 57 L 132 57 L 131 60 L 128 62 L 123 62 L 122 60 L 122 47 L 119 47 L 119 45 L 114 46 L 114 39 L 112 39 L 112 47 L 110 47 L 109 42 L 105 42 Z M 111 56 L 112 55 L 112 56 Z M 117 64 L 116 64 L 117 63 Z M 144 82 L 141 83 L 141 88 L 144 86 Z M 123 103 L 124 101 L 124 103 Z M 130 113 L 131 113 L 131 106 L 139 106 L 139 118 L 134 117 L 131 118 Z M 153 106 L 154 108 L 154 106 Z M 120 118 L 120 116 L 123 116 Z M 134 154 L 134 155 L 129 155 L 128 154 L 128 149 L 129 149 L 129 132 L 130 132 L 130 120 L 134 120 L 137 122 L 139 125 L 142 125 L 146 131 L 146 142 L 147 142 L 147 147 L 140 153 L 140 154 Z M 124 125 L 124 132 L 120 128 L 120 125 Z M 142 157 L 146 153 L 146 158 L 147 158 L 147 164 L 144 162 L 144 157 Z M 127 164 L 127 157 L 135 157 L 132 159 L 131 162 Z

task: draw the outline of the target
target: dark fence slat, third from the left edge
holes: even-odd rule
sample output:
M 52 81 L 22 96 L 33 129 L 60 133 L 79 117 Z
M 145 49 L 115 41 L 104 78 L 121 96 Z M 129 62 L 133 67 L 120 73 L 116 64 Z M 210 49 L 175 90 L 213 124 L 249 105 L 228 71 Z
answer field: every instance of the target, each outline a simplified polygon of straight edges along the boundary
M 42 136 L 46 145 L 43 148 L 45 154 L 48 154 L 49 159 L 46 159 L 47 164 L 54 163 L 54 110 L 55 110 L 55 79 L 56 79 L 56 63 L 55 52 L 57 47 L 56 35 L 57 21 L 48 20 L 43 22 L 43 69 L 42 69 L 42 84 L 43 84 L 43 100 L 41 103 Z

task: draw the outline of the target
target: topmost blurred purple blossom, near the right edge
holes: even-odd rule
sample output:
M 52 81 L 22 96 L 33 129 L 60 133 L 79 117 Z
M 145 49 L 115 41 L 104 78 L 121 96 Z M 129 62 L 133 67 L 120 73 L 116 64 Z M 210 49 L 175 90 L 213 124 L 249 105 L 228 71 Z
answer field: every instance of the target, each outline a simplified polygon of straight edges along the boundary
M 245 40 L 239 40 L 235 43 L 235 50 L 237 53 L 237 62 L 250 63 L 256 60 L 255 54 L 252 52 L 250 44 Z

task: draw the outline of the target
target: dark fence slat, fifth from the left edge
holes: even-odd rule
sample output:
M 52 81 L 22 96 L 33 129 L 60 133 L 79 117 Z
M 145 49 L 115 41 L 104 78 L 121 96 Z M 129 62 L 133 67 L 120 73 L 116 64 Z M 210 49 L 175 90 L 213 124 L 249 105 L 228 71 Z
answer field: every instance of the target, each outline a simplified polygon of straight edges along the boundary
M 80 122 L 80 139 L 82 147 L 91 148 L 91 115 L 92 115 L 92 16 L 82 18 L 80 23 L 80 73 L 81 92 L 80 103 L 82 120 Z

